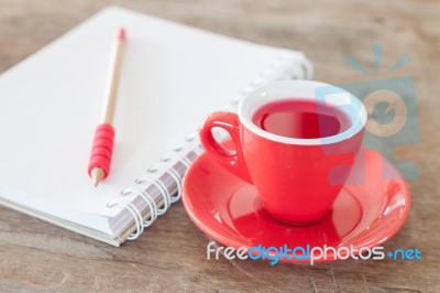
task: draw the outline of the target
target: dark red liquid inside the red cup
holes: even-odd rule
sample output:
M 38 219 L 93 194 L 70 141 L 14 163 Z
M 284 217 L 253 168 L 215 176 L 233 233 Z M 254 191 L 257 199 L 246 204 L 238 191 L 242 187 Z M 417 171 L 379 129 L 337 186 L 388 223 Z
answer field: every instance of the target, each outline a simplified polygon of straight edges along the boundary
M 255 111 L 252 121 L 267 132 L 295 139 L 332 137 L 349 128 L 349 118 L 337 107 L 306 99 L 264 105 Z

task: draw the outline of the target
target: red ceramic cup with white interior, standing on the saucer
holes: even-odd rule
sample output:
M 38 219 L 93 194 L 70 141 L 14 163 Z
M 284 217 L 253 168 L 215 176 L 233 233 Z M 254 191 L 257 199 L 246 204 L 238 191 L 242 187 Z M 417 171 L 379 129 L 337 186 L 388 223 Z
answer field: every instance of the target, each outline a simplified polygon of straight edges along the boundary
M 323 100 L 311 80 L 286 80 L 263 86 L 242 99 L 238 113 L 213 112 L 200 129 L 208 155 L 253 184 L 263 208 L 274 218 L 305 225 L 323 218 L 340 193 L 362 144 L 366 122 L 363 104 L 338 88 Z M 285 137 L 254 123 L 255 112 L 274 102 L 314 102 L 317 111 L 334 115 L 340 131 L 319 138 Z M 334 111 L 338 109 L 338 111 Z M 300 126 L 300 127 L 306 127 Z M 229 132 L 233 150 L 216 141 L 212 128 Z

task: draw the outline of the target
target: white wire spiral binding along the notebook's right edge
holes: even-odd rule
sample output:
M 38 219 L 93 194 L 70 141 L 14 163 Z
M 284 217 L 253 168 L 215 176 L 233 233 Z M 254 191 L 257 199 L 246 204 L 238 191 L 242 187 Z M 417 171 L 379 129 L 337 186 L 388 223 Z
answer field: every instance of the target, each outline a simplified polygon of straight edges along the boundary
M 263 84 L 283 79 L 310 79 L 312 74 L 312 65 L 302 53 L 283 53 L 266 69 L 262 70 L 254 79 L 252 79 L 238 95 L 232 97 L 230 102 L 223 106 L 221 110 L 237 111 L 237 106 L 240 100 Z M 128 240 L 139 238 L 144 231 L 144 228 L 151 226 L 158 216 L 162 216 L 166 210 L 168 210 L 172 204 L 180 199 L 184 173 L 190 166 L 191 162 L 204 152 L 204 149 L 198 141 L 197 133 L 198 131 L 195 131 L 186 137 L 183 144 L 166 153 L 161 158 L 156 165 L 148 169 L 142 176 L 138 177 L 134 181 L 136 185 L 123 189 L 120 193 L 121 197 L 114 198 L 112 202 L 107 204 L 108 208 L 122 205 L 123 208 L 129 210 L 132 215 L 136 229 L 127 238 Z M 215 135 L 219 140 L 227 138 L 226 133 L 215 133 Z M 180 172 L 176 167 L 178 164 L 183 165 Z M 174 182 L 177 189 L 175 194 L 172 194 L 163 180 L 161 180 L 161 177 L 165 175 Z M 160 192 L 163 202 L 163 206 L 161 207 L 155 202 L 152 193 L 148 192 L 152 186 Z M 132 200 L 128 199 L 130 196 L 133 197 Z M 133 204 L 135 197 L 142 198 L 145 203 L 145 211 L 140 210 L 140 208 Z M 143 215 L 146 215 L 147 213 L 150 213 L 150 216 L 144 219 Z

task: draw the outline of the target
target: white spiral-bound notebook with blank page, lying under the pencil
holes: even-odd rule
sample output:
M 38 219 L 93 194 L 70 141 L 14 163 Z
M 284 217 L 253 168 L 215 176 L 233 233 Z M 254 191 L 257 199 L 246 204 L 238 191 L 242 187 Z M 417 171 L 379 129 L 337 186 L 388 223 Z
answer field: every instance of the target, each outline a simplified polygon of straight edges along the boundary
M 87 164 L 120 26 L 112 171 L 95 187 Z M 206 115 L 310 75 L 299 52 L 105 9 L 0 76 L 0 202 L 114 246 L 135 239 L 179 199 Z

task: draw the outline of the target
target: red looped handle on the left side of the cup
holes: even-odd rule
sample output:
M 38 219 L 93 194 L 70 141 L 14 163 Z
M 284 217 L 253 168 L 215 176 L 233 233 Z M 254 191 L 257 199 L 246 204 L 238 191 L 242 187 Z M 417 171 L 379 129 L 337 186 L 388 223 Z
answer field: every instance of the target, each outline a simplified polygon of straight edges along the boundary
M 231 135 L 234 150 L 222 146 L 213 137 L 212 128 L 222 128 Z M 233 112 L 213 112 L 209 115 L 200 128 L 200 141 L 207 154 L 223 165 L 228 171 L 251 183 L 251 176 L 243 158 L 240 142 L 240 121 Z

